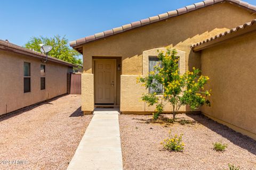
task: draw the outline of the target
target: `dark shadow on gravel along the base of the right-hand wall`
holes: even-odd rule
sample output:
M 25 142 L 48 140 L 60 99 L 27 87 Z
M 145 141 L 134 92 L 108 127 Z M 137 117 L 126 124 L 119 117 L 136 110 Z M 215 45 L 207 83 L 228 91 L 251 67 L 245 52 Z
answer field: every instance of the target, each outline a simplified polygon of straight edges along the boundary
M 228 128 L 228 126 L 215 122 L 210 118 L 204 116 L 203 114 L 200 114 L 200 115 L 186 114 L 186 115 L 193 118 L 195 121 L 201 123 L 202 125 L 206 126 L 207 128 L 211 129 L 215 133 L 220 134 L 223 138 L 228 139 L 230 142 L 234 143 L 235 145 L 243 149 L 246 149 L 252 154 L 256 155 L 255 140 Z

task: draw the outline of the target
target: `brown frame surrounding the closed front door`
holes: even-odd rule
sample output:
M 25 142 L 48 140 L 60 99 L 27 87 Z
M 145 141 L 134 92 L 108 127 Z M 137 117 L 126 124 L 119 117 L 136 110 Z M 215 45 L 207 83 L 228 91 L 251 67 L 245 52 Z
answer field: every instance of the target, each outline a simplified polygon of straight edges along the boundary
M 117 97 L 116 97 L 116 58 L 93 58 L 92 59 L 92 73 L 93 73 L 93 96 L 94 96 L 94 103 L 95 103 L 95 61 L 106 61 L 106 60 L 113 60 L 114 61 L 114 105 L 117 104 Z

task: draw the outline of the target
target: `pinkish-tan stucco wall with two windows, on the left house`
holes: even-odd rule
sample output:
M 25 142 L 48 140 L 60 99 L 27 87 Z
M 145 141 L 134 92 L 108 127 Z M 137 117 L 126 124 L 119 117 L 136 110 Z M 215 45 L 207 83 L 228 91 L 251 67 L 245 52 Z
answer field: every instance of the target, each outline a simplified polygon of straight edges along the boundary
M 30 63 L 30 92 L 23 92 L 23 63 Z M 40 85 L 39 59 L 0 50 L 0 115 L 67 93 L 67 72 L 60 64 L 45 64 L 45 90 Z M 72 69 L 71 69 L 72 70 Z

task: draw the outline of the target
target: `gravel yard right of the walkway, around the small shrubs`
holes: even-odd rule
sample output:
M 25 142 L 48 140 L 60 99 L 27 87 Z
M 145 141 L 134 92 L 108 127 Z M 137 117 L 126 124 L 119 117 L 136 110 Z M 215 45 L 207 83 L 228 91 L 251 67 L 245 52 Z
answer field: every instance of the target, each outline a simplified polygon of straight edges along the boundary
M 165 114 L 164 117 L 172 118 Z M 182 125 L 165 118 L 151 121 L 151 115 L 119 115 L 124 170 L 132 169 L 256 169 L 256 141 L 202 115 L 179 114 Z M 185 150 L 169 152 L 160 144 L 169 130 L 183 133 Z M 227 143 L 226 151 L 213 150 L 214 142 Z

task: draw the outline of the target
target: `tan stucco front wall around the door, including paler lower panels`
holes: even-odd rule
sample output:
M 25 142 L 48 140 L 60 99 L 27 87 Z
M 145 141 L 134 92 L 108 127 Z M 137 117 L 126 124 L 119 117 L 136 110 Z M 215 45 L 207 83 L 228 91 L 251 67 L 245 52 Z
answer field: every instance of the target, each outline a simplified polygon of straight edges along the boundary
M 191 44 L 253 19 L 255 16 L 244 8 L 218 3 L 82 45 L 82 110 L 90 113 L 94 109 L 93 58 L 122 57 L 121 89 L 117 88 L 121 91 L 121 111 L 151 114 L 153 110 L 140 100 L 145 89 L 136 84 L 136 78 L 143 75 L 143 52 L 167 46 L 176 48 L 185 54 L 181 65 L 185 70 L 200 68 L 201 54 L 194 53 Z M 190 109 L 184 107 L 181 111 Z

